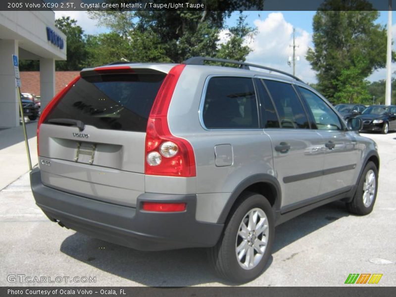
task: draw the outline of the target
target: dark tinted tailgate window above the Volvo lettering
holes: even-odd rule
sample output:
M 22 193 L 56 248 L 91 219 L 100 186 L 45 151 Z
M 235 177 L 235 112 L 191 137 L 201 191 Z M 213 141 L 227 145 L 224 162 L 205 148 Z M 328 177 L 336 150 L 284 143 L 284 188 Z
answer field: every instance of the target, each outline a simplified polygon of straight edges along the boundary
M 99 129 L 146 132 L 166 74 L 106 74 L 80 78 L 46 119 L 74 119 Z

